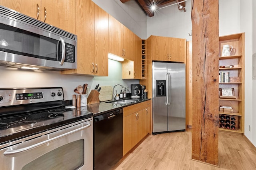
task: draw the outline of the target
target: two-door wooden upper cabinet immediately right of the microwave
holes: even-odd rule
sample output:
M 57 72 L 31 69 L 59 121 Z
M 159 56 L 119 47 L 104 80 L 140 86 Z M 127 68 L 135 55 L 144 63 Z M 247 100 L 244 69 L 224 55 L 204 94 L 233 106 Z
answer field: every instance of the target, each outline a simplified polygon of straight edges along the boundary
M 91 0 L 76 1 L 77 69 L 62 74 L 108 76 L 108 14 Z

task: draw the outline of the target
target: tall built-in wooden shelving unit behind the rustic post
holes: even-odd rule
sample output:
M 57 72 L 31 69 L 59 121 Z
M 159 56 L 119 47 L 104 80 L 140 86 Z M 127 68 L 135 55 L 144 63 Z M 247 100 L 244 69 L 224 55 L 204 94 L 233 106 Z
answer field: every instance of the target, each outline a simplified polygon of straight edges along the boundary
M 233 88 L 236 98 L 219 98 L 219 107 L 232 107 L 230 113 L 219 111 L 219 130 L 234 133 L 244 133 L 244 33 L 226 35 L 219 38 L 221 55 L 223 45 L 232 45 L 230 56 L 219 57 L 220 75 L 228 73 L 227 82 L 222 82 L 220 76 L 219 88 Z M 223 74 L 222 74 L 223 75 Z M 237 79 L 236 79 L 237 78 Z M 231 81 L 233 79 L 233 81 Z M 235 80 L 234 80 L 235 79 Z M 224 118 L 223 118 L 224 117 Z M 229 120 L 235 119 L 233 121 Z M 224 122 L 224 123 L 223 123 Z

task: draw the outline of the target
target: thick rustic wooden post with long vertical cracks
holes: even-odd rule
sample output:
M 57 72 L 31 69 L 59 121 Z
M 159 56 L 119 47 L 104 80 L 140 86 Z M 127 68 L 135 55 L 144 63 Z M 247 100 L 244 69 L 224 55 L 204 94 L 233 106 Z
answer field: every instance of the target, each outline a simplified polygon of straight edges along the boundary
M 192 159 L 218 165 L 218 0 L 192 2 Z

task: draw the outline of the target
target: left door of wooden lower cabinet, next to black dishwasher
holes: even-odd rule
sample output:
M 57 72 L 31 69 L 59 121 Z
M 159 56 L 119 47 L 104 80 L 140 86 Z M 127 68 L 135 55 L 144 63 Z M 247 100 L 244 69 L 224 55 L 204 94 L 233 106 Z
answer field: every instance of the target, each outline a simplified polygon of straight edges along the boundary
M 132 113 L 123 118 L 123 155 L 137 144 L 137 116 Z

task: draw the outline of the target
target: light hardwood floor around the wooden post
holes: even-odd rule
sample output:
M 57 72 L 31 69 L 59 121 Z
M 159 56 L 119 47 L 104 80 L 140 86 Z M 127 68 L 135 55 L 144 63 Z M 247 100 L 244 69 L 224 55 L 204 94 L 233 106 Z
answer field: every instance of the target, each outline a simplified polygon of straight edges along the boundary
M 191 160 L 191 130 L 149 135 L 115 170 L 256 170 L 242 135 L 219 133 L 219 166 Z

